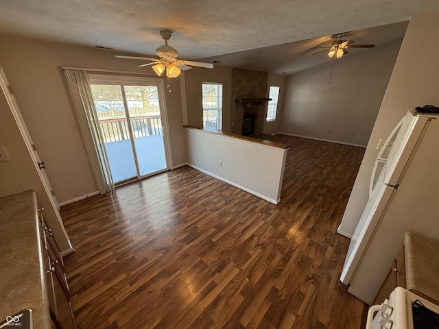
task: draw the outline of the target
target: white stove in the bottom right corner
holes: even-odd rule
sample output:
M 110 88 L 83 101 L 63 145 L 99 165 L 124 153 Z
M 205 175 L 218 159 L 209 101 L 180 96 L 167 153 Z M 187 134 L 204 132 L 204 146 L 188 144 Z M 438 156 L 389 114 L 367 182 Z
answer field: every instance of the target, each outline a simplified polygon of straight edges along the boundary
M 381 305 L 370 306 L 366 329 L 437 329 L 439 306 L 397 287 Z

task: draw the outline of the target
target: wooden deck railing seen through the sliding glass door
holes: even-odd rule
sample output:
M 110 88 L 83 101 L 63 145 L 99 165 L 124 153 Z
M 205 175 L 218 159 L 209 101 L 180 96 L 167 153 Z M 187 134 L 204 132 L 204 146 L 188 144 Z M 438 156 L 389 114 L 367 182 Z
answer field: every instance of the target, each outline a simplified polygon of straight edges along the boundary
M 134 114 L 130 118 L 130 123 L 134 138 L 163 134 L 160 114 Z M 130 138 L 126 117 L 99 118 L 99 125 L 104 135 L 105 143 L 123 141 Z

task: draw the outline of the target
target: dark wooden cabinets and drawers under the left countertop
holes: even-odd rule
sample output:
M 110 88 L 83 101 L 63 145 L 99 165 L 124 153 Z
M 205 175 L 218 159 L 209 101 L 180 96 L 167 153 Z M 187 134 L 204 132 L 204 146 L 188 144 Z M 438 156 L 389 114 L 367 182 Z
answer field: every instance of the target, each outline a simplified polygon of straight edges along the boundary
M 42 210 L 39 211 L 39 217 L 51 324 L 57 329 L 74 329 L 75 321 L 62 255 L 50 228 L 45 223 Z

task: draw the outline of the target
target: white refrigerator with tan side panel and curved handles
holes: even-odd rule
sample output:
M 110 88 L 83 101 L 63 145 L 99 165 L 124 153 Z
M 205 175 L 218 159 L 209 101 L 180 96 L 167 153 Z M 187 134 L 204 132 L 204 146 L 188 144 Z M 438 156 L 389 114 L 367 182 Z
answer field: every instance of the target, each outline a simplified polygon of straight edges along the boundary
M 375 162 L 340 277 L 348 292 L 372 304 L 406 231 L 439 238 L 438 206 L 439 114 L 410 110 Z

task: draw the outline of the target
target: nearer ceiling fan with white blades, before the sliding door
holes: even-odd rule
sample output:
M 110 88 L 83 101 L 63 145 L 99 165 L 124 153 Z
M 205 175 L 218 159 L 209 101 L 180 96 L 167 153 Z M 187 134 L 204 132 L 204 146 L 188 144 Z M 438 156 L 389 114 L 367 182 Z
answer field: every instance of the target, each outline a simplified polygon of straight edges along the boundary
M 213 69 L 213 64 L 202 63 L 202 62 L 192 62 L 191 60 L 179 60 L 178 51 L 167 44 L 167 40 L 171 38 L 172 32 L 162 30 L 160 36 L 165 40 L 165 45 L 161 45 L 156 49 L 156 54 L 159 58 L 149 58 L 149 57 L 134 57 L 134 56 L 120 56 L 116 55 L 117 58 L 126 58 L 129 60 L 151 60 L 152 62 L 141 64 L 141 66 L 152 65 L 154 72 L 160 77 L 163 72 L 166 73 L 167 77 L 178 77 L 181 70 L 192 69 L 191 66 L 205 67 L 206 69 Z M 191 65 L 191 66 L 189 66 Z

